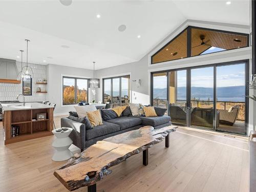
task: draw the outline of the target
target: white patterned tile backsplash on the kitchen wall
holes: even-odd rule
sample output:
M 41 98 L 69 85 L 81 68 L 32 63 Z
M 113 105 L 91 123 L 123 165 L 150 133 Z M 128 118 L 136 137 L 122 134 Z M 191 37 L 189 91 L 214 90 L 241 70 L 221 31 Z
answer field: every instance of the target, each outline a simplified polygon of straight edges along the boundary
M 18 71 L 21 70 L 22 64 L 16 61 Z M 26 64 L 24 63 L 23 66 Z M 35 84 L 37 80 L 46 78 L 46 66 L 37 65 L 34 63 L 28 63 L 33 70 L 33 79 L 32 79 L 32 96 L 25 96 L 25 101 L 43 101 L 47 100 L 48 94 L 46 93 L 35 93 L 36 88 L 40 87 L 41 91 L 47 91 L 47 85 L 45 84 Z M 12 84 L 12 83 L 0 83 L 0 101 L 4 100 L 16 100 L 18 94 L 22 94 L 22 83 Z M 22 100 L 22 98 L 19 98 Z

